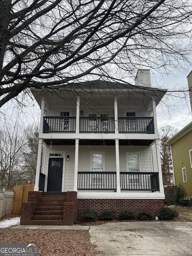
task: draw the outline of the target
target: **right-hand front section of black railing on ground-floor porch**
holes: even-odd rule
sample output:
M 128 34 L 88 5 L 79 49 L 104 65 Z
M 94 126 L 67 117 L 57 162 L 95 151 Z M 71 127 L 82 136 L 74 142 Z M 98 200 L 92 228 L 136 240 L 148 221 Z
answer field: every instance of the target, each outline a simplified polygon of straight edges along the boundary
M 159 191 L 159 173 L 120 172 L 121 190 Z

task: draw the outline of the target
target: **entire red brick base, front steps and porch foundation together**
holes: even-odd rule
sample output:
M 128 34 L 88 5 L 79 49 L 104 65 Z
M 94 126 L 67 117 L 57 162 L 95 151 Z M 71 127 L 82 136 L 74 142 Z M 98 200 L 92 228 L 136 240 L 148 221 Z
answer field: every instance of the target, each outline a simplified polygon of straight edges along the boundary
M 163 199 L 77 199 L 75 191 L 60 194 L 29 191 L 28 202 L 22 203 L 20 224 L 72 225 L 82 219 L 85 209 L 96 210 L 99 215 L 103 210 L 113 210 L 117 218 L 122 210 L 136 214 L 148 210 L 156 216 L 163 206 Z

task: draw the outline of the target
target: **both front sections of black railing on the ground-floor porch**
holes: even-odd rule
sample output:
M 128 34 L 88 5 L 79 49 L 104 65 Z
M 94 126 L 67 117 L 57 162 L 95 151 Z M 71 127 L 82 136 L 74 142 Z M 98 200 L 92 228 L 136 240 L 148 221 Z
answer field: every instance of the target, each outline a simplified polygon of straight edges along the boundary
M 159 173 L 120 172 L 121 190 L 159 191 Z M 116 191 L 116 172 L 78 172 L 78 190 Z

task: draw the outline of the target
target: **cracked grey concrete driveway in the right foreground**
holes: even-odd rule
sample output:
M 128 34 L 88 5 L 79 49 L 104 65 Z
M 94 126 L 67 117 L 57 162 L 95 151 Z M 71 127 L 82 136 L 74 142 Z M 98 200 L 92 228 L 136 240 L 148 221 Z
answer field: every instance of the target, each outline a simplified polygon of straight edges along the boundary
M 99 256 L 192 255 L 192 222 L 119 222 L 91 226 Z

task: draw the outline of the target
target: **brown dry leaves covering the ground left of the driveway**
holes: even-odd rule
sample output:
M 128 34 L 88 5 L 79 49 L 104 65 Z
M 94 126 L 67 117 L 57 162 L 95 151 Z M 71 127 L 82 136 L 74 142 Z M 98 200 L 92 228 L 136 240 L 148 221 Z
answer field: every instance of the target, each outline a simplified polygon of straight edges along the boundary
M 94 256 L 88 230 L 0 229 L 1 243 L 38 243 L 39 256 Z

